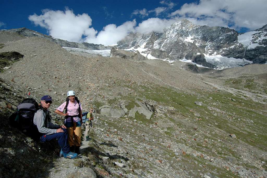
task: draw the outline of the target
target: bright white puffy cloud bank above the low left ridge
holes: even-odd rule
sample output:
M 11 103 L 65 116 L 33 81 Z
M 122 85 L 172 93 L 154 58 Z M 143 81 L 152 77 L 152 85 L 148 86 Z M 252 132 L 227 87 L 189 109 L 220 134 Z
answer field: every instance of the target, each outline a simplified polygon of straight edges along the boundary
M 109 24 L 97 32 L 88 14 L 75 15 L 72 10 L 54 11 L 45 9 L 41 15 L 33 14 L 29 20 L 48 30 L 49 35 L 67 41 L 88 42 L 111 45 L 123 39 L 129 32 L 134 31 L 136 21 L 127 21 L 120 26 Z

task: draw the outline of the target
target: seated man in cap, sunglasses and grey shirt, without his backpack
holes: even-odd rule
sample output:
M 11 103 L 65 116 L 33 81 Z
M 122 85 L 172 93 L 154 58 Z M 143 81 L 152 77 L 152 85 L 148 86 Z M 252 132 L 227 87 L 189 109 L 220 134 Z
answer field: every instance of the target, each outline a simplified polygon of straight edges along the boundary
M 43 96 L 41 98 L 41 108 L 34 114 L 33 123 L 37 126 L 38 131 L 41 134 L 40 141 L 46 142 L 57 139 L 57 142 L 61 147 L 60 156 L 74 159 L 78 154 L 70 152 L 66 126 L 60 126 L 51 122 L 51 115 L 48 110 L 51 103 L 51 96 Z

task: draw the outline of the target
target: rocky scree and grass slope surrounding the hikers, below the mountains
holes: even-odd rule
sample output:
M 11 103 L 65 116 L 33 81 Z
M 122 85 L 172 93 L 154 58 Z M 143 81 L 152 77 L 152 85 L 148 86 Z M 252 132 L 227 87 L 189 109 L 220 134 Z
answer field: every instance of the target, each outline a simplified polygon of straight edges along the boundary
M 1 175 L 267 177 L 267 65 L 204 71 L 180 61 L 85 57 L 8 32 L 0 44 L 0 53 L 24 55 L 0 74 Z M 26 93 L 51 95 L 53 113 L 68 90 L 84 111 L 95 109 L 92 140 L 74 160 L 7 123 Z

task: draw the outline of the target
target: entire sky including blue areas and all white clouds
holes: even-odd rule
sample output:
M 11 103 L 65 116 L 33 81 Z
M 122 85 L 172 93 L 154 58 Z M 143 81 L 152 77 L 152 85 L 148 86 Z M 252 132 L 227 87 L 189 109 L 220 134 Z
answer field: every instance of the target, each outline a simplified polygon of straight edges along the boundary
M 186 18 L 239 32 L 267 24 L 266 0 L 7 1 L 0 29 L 26 27 L 68 41 L 112 44 L 129 32 L 161 31 Z

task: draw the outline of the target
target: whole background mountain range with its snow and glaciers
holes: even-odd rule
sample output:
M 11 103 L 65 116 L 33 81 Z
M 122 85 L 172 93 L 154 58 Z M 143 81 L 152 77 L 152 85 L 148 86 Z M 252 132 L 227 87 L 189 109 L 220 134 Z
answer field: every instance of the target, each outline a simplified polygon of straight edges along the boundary
M 181 60 L 211 69 L 224 69 L 250 63 L 266 63 L 266 26 L 253 32 L 239 34 L 225 27 L 194 25 L 188 20 L 182 20 L 158 33 L 129 33 L 123 40 L 117 42 L 117 46 L 69 42 L 26 28 L 5 31 L 26 37 L 42 37 L 79 55 L 87 56 L 88 53 L 95 55 L 97 51 L 92 50 L 110 50 L 116 47 L 139 52 L 149 59 L 169 62 Z

